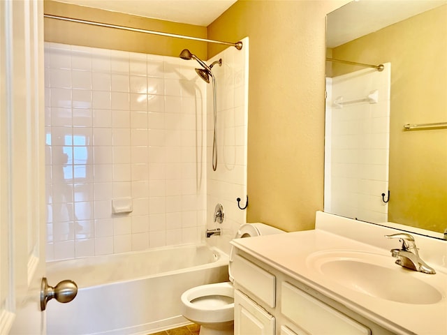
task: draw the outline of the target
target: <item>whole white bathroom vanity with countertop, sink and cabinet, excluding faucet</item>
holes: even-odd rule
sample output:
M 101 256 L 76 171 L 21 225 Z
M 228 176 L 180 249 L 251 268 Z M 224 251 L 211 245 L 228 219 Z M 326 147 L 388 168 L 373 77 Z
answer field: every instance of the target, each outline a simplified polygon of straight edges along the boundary
M 315 230 L 234 239 L 235 334 L 447 334 L 447 241 L 412 234 L 425 274 L 395 264 L 396 233 L 318 211 Z

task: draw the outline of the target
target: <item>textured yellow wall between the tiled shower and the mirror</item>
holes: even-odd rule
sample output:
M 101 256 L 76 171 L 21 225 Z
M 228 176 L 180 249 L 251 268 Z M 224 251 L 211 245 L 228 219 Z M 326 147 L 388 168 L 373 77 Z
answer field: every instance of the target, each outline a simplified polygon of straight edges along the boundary
M 312 229 L 323 209 L 325 15 L 347 2 L 239 0 L 208 27 L 249 36 L 248 222 Z

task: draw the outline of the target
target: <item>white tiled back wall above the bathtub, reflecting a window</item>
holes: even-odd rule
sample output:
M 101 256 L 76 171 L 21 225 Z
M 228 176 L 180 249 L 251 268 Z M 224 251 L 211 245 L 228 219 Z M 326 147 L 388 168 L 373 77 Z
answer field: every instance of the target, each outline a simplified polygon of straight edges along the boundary
M 197 66 L 45 43 L 47 260 L 204 240 L 212 89 Z M 114 214 L 117 200 L 131 213 Z

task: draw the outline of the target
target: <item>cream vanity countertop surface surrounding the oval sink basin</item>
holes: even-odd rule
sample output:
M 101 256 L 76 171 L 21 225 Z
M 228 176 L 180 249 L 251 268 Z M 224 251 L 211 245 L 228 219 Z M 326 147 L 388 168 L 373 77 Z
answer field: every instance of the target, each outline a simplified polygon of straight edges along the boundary
M 396 243 L 398 242 L 395 240 L 395 248 L 399 246 Z M 436 269 L 437 274 L 423 274 L 405 269 L 395 264 L 395 258 L 391 257 L 390 249 L 365 244 L 321 229 L 233 239 L 231 244 L 396 334 L 447 334 L 447 270 L 445 267 L 430 264 Z M 390 271 L 402 271 L 404 276 L 399 278 L 408 278 L 410 282 L 424 281 L 432 288 L 439 290 L 437 292 L 439 301 L 406 303 L 374 297 L 348 288 L 342 281 L 337 282 L 331 276 L 316 269 L 318 257 L 334 252 L 338 255 L 337 257 L 342 257 L 340 255 L 344 253 L 376 255 L 385 261 L 383 266 L 388 267 Z M 423 255 L 421 257 L 423 258 Z M 387 278 L 378 278 L 376 284 L 388 285 Z M 402 283 L 402 285 L 407 284 Z M 390 292 L 402 290 L 396 283 L 393 286 L 395 288 L 391 288 Z M 410 297 L 411 295 L 420 297 L 418 296 L 420 292 L 409 291 Z

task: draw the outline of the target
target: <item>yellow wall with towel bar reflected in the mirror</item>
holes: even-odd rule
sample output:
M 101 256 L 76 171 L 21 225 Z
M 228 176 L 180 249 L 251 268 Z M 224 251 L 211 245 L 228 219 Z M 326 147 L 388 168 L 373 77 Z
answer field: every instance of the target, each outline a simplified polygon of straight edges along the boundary
M 447 121 L 447 5 L 336 47 L 332 57 L 391 62 L 389 221 L 444 232 L 447 129 L 403 125 Z

